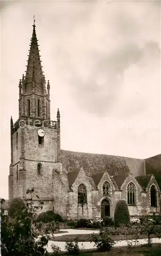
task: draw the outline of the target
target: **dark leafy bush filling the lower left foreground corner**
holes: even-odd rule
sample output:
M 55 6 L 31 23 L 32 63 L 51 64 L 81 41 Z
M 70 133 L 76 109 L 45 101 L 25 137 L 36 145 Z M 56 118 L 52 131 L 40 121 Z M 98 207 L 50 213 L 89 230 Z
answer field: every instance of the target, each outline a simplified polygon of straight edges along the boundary
M 28 191 L 30 192 L 32 194 L 34 189 Z M 40 207 L 42 207 L 41 202 Z M 2 255 L 41 256 L 46 251 L 44 247 L 48 244 L 48 236 L 38 238 L 39 232 L 34 221 L 35 208 L 32 202 L 28 207 L 20 209 L 16 215 L 1 215 Z

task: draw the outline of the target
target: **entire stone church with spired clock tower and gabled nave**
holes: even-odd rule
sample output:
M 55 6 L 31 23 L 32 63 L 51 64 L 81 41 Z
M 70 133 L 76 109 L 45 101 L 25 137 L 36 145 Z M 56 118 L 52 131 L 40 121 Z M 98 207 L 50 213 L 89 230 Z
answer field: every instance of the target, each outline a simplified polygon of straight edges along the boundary
M 120 199 L 130 216 L 160 213 L 161 155 L 149 159 L 61 150 L 60 112 L 50 118 L 50 82 L 42 72 L 33 25 L 26 76 L 19 80 L 19 118 L 11 117 L 9 200 L 26 202 L 34 188 L 34 203 L 54 209 L 63 218 L 113 217 Z

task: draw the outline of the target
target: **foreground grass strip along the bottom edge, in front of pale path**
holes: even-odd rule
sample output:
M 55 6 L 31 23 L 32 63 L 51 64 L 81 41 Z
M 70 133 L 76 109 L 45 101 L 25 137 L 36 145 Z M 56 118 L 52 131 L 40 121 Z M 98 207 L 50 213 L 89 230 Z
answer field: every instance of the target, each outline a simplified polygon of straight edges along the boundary
M 49 255 L 52 255 L 50 253 Z M 62 255 L 67 255 L 62 253 Z M 81 252 L 80 256 L 160 256 L 161 255 L 161 245 L 153 244 L 151 248 L 146 246 L 136 246 L 132 248 L 113 248 L 111 251 L 97 252 L 97 251 L 86 251 Z M 69 254 L 68 254 L 69 256 Z

